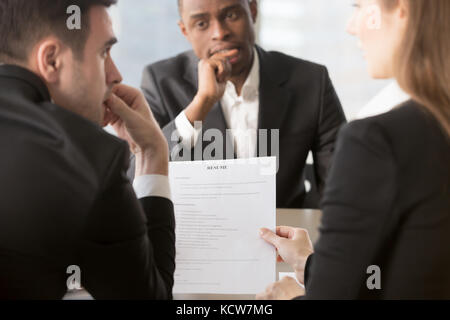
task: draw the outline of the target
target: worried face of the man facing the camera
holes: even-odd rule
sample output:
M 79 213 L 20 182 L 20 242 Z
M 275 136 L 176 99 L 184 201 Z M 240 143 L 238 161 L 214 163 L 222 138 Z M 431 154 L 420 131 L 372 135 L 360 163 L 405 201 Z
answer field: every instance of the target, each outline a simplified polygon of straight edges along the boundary
M 255 45 L 256 0 L 182 0 L 181 31 L 200 59 L 238 49 L 233 76 L 250 69 Z

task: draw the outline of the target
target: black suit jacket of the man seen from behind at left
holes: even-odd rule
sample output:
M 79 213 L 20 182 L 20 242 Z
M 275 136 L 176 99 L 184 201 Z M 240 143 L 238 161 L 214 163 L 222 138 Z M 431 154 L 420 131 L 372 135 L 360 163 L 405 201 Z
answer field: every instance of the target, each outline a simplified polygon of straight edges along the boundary
M 96 299 L 171 298 L 171 201 L 136 199 L 125 142 L 0 66 L 0 298 L 60 299 L 67 268 Z

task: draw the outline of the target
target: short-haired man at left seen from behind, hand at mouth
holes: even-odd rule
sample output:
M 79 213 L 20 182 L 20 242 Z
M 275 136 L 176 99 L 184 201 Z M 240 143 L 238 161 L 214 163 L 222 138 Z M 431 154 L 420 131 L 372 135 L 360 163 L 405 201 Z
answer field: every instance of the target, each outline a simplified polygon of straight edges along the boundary
M 142 93 L 119 84 L 113 3 L 0 0 L 0 299 L 80 285 L 96 299 L 172 296 L 167 143 Z M 136 154 L 137 194 L 107 123 Z

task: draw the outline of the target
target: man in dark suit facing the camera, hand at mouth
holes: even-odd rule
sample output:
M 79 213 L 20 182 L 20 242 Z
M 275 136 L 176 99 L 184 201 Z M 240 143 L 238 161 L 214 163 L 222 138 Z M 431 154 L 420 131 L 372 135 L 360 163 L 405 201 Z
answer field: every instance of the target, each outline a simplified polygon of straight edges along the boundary
M 148 66 L 142 81 L 172 159 L 278 156 L 277 206 L 317 207 L 305 200 L 305 162 L 312 151 L 322 193 L 345 123 L 326 68 L 255 46 L 256 0 L 179 6 L 193 51 Z

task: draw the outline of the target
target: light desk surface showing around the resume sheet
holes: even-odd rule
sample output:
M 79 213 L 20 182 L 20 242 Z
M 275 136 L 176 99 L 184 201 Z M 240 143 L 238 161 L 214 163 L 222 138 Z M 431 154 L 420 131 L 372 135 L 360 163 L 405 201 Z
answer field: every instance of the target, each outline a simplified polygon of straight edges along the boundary
M 319 226 L 322 213 L 318 210 L 277 209 L 277 225 L 291 226 L 308 230 L 313 243 L 319 238 Z M 277 263 L 277 278 L 279 272 L 292 272 L 285 263 Z M 220 276 L 220 275 L 218 275 Z M 218 294 L 175 294 L 175 300 L 254 300 L 254 295 L 218 295 Z M 92 299 L 85 291 L 72 292 L 66 295 L 66 300 Z

